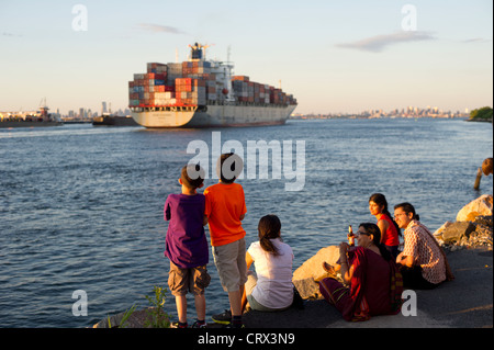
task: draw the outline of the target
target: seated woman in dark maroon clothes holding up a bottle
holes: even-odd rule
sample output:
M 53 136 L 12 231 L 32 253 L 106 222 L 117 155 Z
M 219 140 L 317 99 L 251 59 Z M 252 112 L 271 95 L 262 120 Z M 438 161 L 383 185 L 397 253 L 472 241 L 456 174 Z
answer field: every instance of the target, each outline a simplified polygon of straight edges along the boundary
M 368 320 L 375 315 L 395 315 L 402 305 L 403 284 L 396 263 L 382 245 L 381 230 L 371 223 L 360 224 L 358 247 L 339 245 L 341 278 L 319 282 L 319 290 L 348 321 Z

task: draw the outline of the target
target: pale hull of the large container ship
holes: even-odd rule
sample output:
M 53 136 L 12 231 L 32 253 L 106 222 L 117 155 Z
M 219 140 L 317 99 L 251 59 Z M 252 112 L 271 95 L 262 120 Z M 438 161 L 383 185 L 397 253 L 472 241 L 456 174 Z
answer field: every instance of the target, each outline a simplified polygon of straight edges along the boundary
M 148 128 L 231 127 L 284 124 L 296 105 L 207 105 L 180 111 L 132 112 L 137 124 Z M 180 108 L 179 108 L 180 109 Z

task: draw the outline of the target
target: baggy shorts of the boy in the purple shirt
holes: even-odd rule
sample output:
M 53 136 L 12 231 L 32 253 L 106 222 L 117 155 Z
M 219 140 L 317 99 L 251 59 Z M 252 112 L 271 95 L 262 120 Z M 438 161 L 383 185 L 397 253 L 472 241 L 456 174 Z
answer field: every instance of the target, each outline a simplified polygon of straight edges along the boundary
M 168 286 L 175 296 L 183 296 L 190 292 L 193 295 L 204 294 L 204 289 L 210 285 L 211 276 L 205 266 L 180 269 L 170 261 L 170 272 L 168 273 Z

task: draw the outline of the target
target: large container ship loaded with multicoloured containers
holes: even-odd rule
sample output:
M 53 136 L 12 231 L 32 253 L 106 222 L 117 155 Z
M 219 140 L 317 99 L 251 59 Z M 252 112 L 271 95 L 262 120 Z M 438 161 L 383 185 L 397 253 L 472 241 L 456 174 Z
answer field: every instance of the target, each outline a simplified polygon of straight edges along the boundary
M 128 82 L 132 117 L 148 128 L 284 124 L 297 103 L 272 86 L 233 76 L 229 63 L 205 59 L 207 45 L 189 45 L 179 64 L 148 63 Z

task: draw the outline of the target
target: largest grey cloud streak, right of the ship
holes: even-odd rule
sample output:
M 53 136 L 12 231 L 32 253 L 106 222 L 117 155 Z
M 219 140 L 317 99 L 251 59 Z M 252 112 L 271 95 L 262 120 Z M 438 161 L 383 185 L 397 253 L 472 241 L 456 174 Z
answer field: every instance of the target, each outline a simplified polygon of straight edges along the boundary
M 336 46 L 343 48 L 355 48 L 370 53 L 381 53 L 392 45 L 431 39 L 436 39 L 436 37 L 429 32 L 403 31 L 393 34 L 371 36 L 353 43 L 341 43 Z

